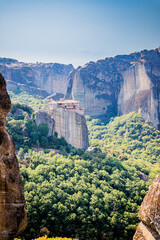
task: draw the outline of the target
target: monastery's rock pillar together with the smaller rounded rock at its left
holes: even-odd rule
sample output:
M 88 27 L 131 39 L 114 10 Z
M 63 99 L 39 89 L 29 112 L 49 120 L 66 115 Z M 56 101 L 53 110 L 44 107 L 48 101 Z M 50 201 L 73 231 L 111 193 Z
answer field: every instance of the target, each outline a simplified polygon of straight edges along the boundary
M 84 115 L 63 108 L 54 109 L 50 115 L 39 111 L 36 114 L 36 124 L 46 123 L 49 135 L 58 133 L 58 138 L 64 137 L 67 143 L 77 149 L 87 149 L 88 129 Z

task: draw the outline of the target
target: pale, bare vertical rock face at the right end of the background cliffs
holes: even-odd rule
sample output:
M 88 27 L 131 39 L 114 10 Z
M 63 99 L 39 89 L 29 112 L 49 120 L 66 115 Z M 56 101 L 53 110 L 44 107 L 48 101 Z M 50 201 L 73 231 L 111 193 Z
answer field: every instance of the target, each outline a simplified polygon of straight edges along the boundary
M 121 91 L 118 96 L 118 111 L 121 114 L 141 109 L 141 115 L 159 126 L 159 93 L 154 77 L 150 78 L 144 63 L 138 62 L 124 73 Z M 153 82 L 152 82 L 153 80 Z

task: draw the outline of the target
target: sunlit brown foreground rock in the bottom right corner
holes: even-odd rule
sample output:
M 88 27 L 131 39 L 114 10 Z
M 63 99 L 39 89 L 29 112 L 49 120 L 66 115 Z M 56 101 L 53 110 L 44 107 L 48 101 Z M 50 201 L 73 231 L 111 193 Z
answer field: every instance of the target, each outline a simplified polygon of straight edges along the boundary
M 139 210 L 141 223 L 133 240 L 160 239 L 160 174 L 156 177 Z

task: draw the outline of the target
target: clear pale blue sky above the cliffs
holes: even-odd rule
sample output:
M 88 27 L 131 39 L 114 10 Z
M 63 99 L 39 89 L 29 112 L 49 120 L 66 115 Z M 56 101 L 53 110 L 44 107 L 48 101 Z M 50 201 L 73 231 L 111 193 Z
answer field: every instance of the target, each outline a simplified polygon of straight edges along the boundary
M 0 57 L 74 67 L 160 46 L 160 0 L 0 0 Z

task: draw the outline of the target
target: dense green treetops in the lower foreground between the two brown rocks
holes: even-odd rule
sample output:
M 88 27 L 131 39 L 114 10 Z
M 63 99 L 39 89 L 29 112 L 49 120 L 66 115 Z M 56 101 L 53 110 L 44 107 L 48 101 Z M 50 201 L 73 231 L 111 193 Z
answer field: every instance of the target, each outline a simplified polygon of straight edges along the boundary
M 71 156 L 32 153 L 22 166 L 28 210 L 25 239 L 51 236 L 131 239 L 147 185 L 138 172 L 97 151 Z

